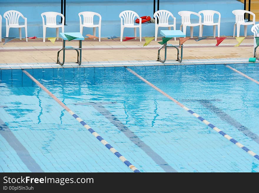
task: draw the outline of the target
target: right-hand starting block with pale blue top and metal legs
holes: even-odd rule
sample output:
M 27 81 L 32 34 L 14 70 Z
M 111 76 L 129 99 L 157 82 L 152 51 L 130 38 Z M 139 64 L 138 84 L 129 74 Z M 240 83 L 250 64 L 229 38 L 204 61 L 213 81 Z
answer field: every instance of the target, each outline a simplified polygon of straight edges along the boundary
M 160 34 L 162 36 L 164 36 L 165 38 L 175 38 L 175 37 L 184 38 L 185 37 L 185 34 L 181 30 L 161 30 Z M 179 45 L 167 44 L 167 42 L 165 42 L 163 44 L 163 46 L 161 46 L 158 49 L 157 61 L 164 63 L 166 61 L 167 48 L 171 48 L 171 47 L 177 49 L 177 60 L 176 61 L 182 62 L 183 45 L 180 45 L 180 40 L 179 40 Z M 181 57 L 179 56 L 179 48 L 178 47 L 181 48 Z M 160 51 L 161 51 L 162 48 L 165 48 L 165 58 L 164 58 L 164 60 L 161 60 L 161 57 L 160 57 Z

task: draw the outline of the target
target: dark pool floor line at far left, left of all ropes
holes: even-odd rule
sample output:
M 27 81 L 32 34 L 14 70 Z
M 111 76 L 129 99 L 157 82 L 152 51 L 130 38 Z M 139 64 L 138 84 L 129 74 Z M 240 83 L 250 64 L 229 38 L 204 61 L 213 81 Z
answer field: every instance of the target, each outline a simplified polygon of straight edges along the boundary
M 39 164 L 31 157 L 28 150 L 21 144 L 10 128 L 0 119 L 0 134 L 15 150 L 21 161 L 31 172 L 44 172 Z

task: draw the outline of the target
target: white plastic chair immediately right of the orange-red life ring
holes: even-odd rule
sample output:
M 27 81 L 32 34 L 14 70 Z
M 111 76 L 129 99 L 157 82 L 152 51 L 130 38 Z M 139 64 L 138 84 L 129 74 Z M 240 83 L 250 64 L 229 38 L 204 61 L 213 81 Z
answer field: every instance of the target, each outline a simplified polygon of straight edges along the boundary
M 169 24 L 169 18 L 170 16 L 174 20 L 173 24 Z M 168 27 L 169 30 L 171 30 L 171 27 L 176 30 L 176 18 L 173 16 L 173 14 L 170 11 L 167 10 L 158 10 L 154 13 L 155 18 L 155 41 L 157 41 L 157 33 L 159 27 Z M 158 19 L 158 24 L 157 24 Z M 175 38 L 176 40 L 176 38 Z

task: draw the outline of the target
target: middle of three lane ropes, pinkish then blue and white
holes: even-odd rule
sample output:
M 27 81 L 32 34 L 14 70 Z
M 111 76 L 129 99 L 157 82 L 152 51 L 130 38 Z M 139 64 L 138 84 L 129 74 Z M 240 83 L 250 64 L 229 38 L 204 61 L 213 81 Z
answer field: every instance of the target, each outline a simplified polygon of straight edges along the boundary
M 247 147 L 245 147 L 244 145 L 242 145 L 241 143 L 237 142 L 235 139 L 233 139 L 232 137 L 230 137 L 229 135 L 227 135 L 225 132 L 223 132 L 222 130 L 220 130 L 218 127 L 215 127 L 214 125 L 212 125 L 210 122 L 208 122 L 207 120 L 205 120 L 204 118 L 202 118 L 200 115 L 198 115 L 197 113 L 194 113 L 192 110 L 190 110 L 189 108 L 187 108 L 186 106 L 184 106 L 182 103 L 178 102 L 177 100 L 175 100 L 174 98 L 172 98 L 170 95 L 168 95 L 167 93 L 165 93 L 164 91 L 160 90 L 159 88 L 157 88 L 155 85 L 153 85 L 152 83 L 150 83 L 149 81 L 147 81 L 145 78 L 143 78 L 142 76 L 138 75 L 136 72 L 134 72 L 133 70 L 127 68 L 127 70 L 129 72 L 131 72 L 132 74 L 134 74 L 135 76 L 137 76 L 138 78 L 140 78 L 142 81 L 144 81 L 145 83 L 147 83 L 148 85 L 150 85 L 152 88 L 154 88 L 155 90 L 157 90 L 158 92 L 162 93 L 163 95 L 165 95 L 167 98 L 169 98 L 170 100 L 172 100 L 173 102 L 175 102 L 177 105 L 179 105 L 180 107 L 182 107 L 183 109 L 185 109 L 187 112 L 191 113 L 193 116 L 195 116 L 196 118 L 198 118 L 201 122 L 205 123 L 206 125 L 208 125 L 210 128 L 212 128 L 213 130 L 217 131 L 220 135 L 222 135 L 223 137 L 227 138 L 229 141 L 231 141 L 232 143 L 234 143 L 235 145 L 237 145 L 238 147 L 240 147 L 241 149 L 245 150 L 246 152 L 248 152 L 250 155 L 252 155 L 253 157 L 255 157 L 257 160 L 259 160 L 259 155 L 257 155 L 255 152 L 249 150 Z

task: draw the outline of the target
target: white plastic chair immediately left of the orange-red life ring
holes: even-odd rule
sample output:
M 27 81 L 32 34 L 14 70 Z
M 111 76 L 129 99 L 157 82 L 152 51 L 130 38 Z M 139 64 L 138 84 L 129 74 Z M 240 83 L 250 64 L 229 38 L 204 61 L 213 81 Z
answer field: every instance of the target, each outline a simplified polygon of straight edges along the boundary
M 137 17 L 140 20 L 140 23 L 138 25 L 134 25 L 135 17 Z M 134 28 L 135 39 L 137 39 L 137 28 L 139 28 L 140 29 L 140 41 L 141 41 L 142 19 L 140 18 L 140 16 L 135 11 L 126 10 L 126 11 L 122 11 L 119 14 L 119 18 L 121 21 L 120 22 L 120 41 L 122 41 L 122 38 L 123 38 L 124 28 Z

